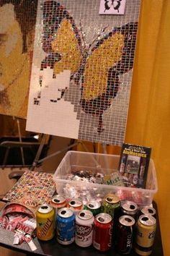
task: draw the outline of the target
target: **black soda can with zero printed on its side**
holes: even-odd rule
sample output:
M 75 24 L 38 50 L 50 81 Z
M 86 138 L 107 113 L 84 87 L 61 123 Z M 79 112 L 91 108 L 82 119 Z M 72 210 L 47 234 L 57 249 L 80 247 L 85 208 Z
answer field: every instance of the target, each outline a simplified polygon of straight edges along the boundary
M 121 216 L 117 226 L 115 247 L 120 254 L 130 254 L 133 247 L 133 227 L 135 219 L 131 216 Z

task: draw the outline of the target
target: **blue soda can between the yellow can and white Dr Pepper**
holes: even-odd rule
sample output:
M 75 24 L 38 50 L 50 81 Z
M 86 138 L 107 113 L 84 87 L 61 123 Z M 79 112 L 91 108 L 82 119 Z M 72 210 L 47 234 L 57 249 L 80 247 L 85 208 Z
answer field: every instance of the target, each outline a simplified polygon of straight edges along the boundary
M 61 208 L 58 210 L 56 229 L 58 243 L 73 243 L 75 233 L 75 215 L 73 210 L 69 208 Z

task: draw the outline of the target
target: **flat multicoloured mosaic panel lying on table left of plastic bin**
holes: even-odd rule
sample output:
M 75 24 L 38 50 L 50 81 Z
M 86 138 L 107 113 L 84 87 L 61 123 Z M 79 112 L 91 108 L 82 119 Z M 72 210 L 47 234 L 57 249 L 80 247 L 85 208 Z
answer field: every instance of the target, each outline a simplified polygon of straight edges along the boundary
M 25 205 L 27 205 L 27 202 L 30 202 L 30 204 L 36 202 L 36 205 L 41 205 L 43 202 L 48 202 L 54 193 L 53 174 L 27 170 L 3 200 L 23 199 Z

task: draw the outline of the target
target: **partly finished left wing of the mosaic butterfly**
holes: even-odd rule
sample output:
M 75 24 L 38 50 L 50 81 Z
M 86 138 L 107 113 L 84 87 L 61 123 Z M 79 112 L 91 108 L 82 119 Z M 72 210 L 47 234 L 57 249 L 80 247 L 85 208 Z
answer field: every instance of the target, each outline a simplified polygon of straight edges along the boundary
M 50 67 L 54 74 L 59 74 L 64 69 L 73 73 L 79 68 L 82 57 L 79 30 L 70 14 L 56 1 L 45 1 L 43 5 L 42 48 L 47 56 L 41 69 Z

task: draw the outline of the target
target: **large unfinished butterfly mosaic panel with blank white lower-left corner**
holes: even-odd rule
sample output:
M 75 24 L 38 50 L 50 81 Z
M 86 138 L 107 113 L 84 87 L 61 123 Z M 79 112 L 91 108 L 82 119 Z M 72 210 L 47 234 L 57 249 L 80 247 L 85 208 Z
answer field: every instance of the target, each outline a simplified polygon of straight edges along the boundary
M 99 9 L 99 0 L 39 0 L 27 130 L 122 145 L 140 0 L 123 15 Z

